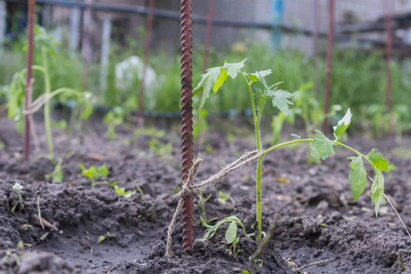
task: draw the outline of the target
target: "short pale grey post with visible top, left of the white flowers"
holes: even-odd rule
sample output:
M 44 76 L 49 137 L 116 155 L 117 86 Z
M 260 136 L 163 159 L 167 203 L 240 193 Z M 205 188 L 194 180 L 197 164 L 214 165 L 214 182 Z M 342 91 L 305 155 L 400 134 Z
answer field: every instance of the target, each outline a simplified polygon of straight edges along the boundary
M 103 33 L 101 34 L 101 70 L 100 70 L 100 90 L 107 89 L 108 56 L 110 54 L 111 21 L 110 16 L 103 18 Z

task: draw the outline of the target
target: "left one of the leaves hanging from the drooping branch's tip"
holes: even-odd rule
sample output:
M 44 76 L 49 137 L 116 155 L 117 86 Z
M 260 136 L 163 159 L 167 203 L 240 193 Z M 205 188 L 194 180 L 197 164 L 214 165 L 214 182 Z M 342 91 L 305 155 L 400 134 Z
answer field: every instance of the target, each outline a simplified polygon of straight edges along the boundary
M 351 172 L 348 175 L 348 179 L 351 183 L 354 201 L 356 201 L 366 188 L 366 170 L 361 156 L 349 157 L 347 160 L 351 160 L 351 164 L 349 164 Z

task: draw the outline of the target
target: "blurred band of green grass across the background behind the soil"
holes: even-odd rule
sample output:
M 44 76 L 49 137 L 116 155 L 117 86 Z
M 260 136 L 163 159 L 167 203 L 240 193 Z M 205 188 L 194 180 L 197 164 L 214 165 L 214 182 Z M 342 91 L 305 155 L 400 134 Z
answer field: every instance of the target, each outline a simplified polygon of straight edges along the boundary
M 12 75 L 25 66 L 25 51 L 23 51 L 23 38 L 12 45 L 8 45 L 5 51 L 5 60 L 0 64 L 0 86 L 8 85 Z M 115 85 L 114 66 L 131 55 L 142 55 L 142 41 L 129 40 L 127 47 L 119 47 L 113 43 L 110 53 L 110 66 L 108 73 L 108 90 L 99 90 L 99 64 L 92 64 L 88 69 L 86 89 L 97 97 L 100 105 L 121 105 L 125 110 L 135 110 L 138 103 L 139 80 L 135 77 L 132 88 L 119 91 Z M 284 81 L 284 90 L 290 92 L 297 90 L 299 86 L 312 82 L 314 77 L 314 65 L 311 57 L 297 51 L 284 50 L 272 52 L 264 45 L 254 45 L 246 51 L 236 52 L 229 50 L 224 53 L 210 52 L 209 67 L 221 65 L 221 60 L 239 62 L 249 58 L 245 71 L 254 72 L 257 69 L 272 69 L 273 74 L 267 77 L 268 82 Z M 34 64 L 40 64 L 40 54 L 34 54 Z M 193 51 L 193 86 L 197 85 L 202 73 L 203 50 Z M 160 51 L 151 52 L 149 64 L 155 69 L 159 81 L 158 88 L 151 95 L 145 97 L 145 109 L 158 112 L 179 112 L 180 110 L 180 60 L 179 55 L 168 56 Z M 66 86 L 82 89 L 82 62 L 79 56 L 72 58 L 69 51 L 62 45 L 50 58 L 51 86 Z M 319 62 L 320 83 L 319 101 L 322 101 L 325 63 L 323 58 Z M 401 69 L 401 64 L 391 64 L 393 73 L 393 97 L 395 104 L 408 103 L 407 90 L 411 88 L 411 73 Z M 34 73 L 34 98 L 42 94 L 45 86 L 41 75 Z M 364 105 L 384 104 L 385 101 L 385 62 L 382 52 L 369 55 L 346 49 L 337 50 L 334 53 L 332 67 L 332 84 L 330 104 L 340 103 L 343 108 L 350 108 L 353 112 L 361 113 Z M 223 92 L 210 97 L 206 108 L 210 112 L 223 112 L 232 109 L 238 111 L 249 109 L 249 97 L 247 90 L 236 81 L 227 82 L 223 86 Z M 147 103 L 148 96 L 151 103 Z M 62 98 L 60 98 L 62 99 Z M 411 103 L 408 103 L 411 109 Z M 266 112 L 274 114 L 275 110 L 267 109 Z M 410 114 L 411 116 L 411 114 Z M 411 121 L 411 117 L 408 117 Z

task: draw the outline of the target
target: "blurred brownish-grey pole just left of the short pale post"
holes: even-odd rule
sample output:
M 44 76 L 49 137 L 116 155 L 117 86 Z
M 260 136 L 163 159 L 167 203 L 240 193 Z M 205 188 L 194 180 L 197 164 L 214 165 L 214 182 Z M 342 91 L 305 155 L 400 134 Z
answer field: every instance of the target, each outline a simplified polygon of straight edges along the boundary
M 92 49 L 90 36 L 92 32 L 92 1 L 86 0 L 87 8 L 84 11 L 84 22 L 83 22 L 83 45 L 82 45 L 82 58 L 83 58 L 83 90 L 87 89 L 87 78 L 88 78 L 88 65 L 92 60 Z

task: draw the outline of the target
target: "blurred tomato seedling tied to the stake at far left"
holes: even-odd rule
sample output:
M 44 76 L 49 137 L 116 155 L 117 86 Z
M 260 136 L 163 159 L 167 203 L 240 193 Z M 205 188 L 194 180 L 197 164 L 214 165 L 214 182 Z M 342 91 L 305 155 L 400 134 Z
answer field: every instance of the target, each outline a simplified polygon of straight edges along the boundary
M 90 92 L 79 92 L 73 88 L 58 88 L 51 91 L 51 82 L 49 77 L 49 55 L 53 55 L 54 43 L 53 37 L 48 35 L 44 28 L 36 25 L 34 27 L 35 34 L 35 45 L 39 47 L 42 57 L 42 66 L 32 66 L 34 71 L 40 71 L 44 75 L 45 92 L 40 95 L 35 101 L 30 105 L 28 112 L 24 110 L 25 101 L 25 74 L 27 69 L 16 73 L 10 84 L 10 89 L 8 92 L 8 119 L 12 119 L 16 123 L 17 132 L 21 133 L 24 127 L 24 115 L 34 114 L 40 110 L 44 105 L 43 113 L 45 119 L 45 132 L 47 136 L 47 147 L 49 149 L 49 160 L 54 160 L 54 149 L 53 149 L 53 137 L 51 135 L 51 108 L 50 100 L 56 96 L 74 96 L 82 108 L 81 118 L 87 120 L 92 112 L 92 105 L 90 103 L 90 98 L 92 97 Z

